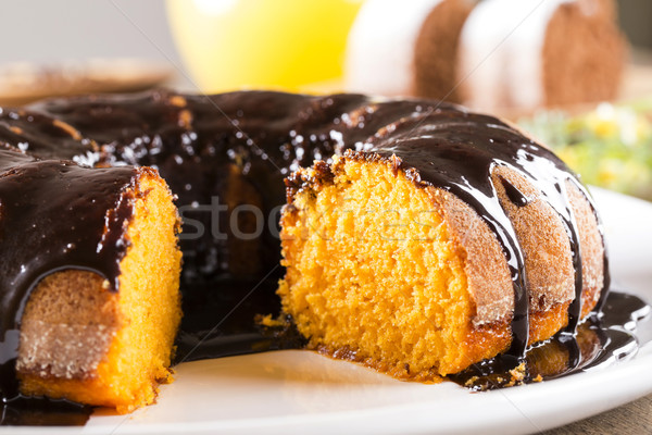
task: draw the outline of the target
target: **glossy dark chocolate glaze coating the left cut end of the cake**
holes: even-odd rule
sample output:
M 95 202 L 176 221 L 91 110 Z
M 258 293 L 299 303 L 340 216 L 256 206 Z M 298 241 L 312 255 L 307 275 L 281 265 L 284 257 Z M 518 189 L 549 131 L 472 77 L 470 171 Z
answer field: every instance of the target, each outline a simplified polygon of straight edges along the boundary
M 138 170 L 88 169 L 0 150 L 0 393 L 13 375 L 21 315 L 32 289 L 52 272 L 89 270 L 117 290 Z

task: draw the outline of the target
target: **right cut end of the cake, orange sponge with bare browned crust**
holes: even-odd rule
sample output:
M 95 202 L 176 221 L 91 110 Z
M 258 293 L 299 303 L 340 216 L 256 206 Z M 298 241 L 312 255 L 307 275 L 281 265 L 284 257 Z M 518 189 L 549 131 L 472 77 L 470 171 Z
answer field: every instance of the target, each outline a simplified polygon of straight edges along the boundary
M 421 161 L 397 144 L 378 146 L 380 153 L 347 151 L 288 178 L 281 217 L 287 272 L 278 294 L 310 347 L 396 377 L 434 381 L 513 348 L 523 339 L 515 330 L 523 315 L 523 345 L 577 322 L 569 318 L 577 251 L 549 198 L 513 167 L 489 167 L 512 227 L 502 231 L 513 231 L 519 246 L 507 252 L 488 224 L 500 214 L 480 216 L 444 186 L 428 183 L 429 166 L 442 167 L 447 156 L 438 146 L 422 144 Z M 477 170 L 475 162 L 468 167 Z M 602 289 L 602 239 L 584 194 L 567 188 L 581 244 L 584 318 Z M 521 256 L 525 313 L 511 268 Z

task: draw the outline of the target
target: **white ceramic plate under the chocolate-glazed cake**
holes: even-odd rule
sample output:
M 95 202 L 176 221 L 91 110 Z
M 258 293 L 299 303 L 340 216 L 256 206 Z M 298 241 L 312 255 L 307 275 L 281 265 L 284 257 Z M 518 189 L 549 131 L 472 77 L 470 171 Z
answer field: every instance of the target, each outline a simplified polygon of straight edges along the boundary
M 592 189 L 612 274 L 652 300 L 652 204 Z M 288 350 L 184 363 L 158 403 L 129 415 L 96 412 L 85 427 L 43 434 L 535 433 L 652 393 L 652 346 L 630 361 L 540 384 L 472 394 L 453 383 L 394 381 L 353 363 Z M 5 428 L 0 430 L 4 433 Z

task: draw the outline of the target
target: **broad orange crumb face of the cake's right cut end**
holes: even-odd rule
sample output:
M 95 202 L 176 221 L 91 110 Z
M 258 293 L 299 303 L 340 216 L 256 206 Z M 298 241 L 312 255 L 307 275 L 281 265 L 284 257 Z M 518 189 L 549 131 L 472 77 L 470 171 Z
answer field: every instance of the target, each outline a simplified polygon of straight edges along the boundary
M 330 171 L 308 170 L 319 182 L 281 222 L 278 293 L 311 347 L 436 381 L 509 345 L 509 325 L 473 326 L 465 252 L 427 188 L 387 161 L 335 158 Z

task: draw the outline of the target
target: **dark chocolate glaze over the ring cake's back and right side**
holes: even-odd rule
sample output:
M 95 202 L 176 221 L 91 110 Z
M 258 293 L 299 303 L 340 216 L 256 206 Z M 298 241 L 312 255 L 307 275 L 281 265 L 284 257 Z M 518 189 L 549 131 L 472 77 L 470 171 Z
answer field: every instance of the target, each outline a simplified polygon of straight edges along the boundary
M 62 156 L 87 165 L 159 169 L 178 196 L 177 204 L 185 222 L 181 288 L 186 299 L 181 330 L 186 332 L 203 331 L 193 324 L 193 310 L 205 309 L 201 302 L 205 295 L 213 295 L 211 298 L 220 301 L 216 304 L 236 310 L 231 320 L 246 319 L 244 332 L 252 331 L 251 313 L 240 315 L 238 310 L 242 307 L 229 304 L 238 300 L 234 294 L 250 300 L 260 309 L 258 312 L 278 310 L 274 290 L 283 271 L 278 268 L 276 222 L 286 196 L 283 179 L 299 166 L 309 166 L 314 160 L 328 160 L 347 150 L 356 156 L 393 159 L 396 170 L 404 171 L 415 184 L 456 195 L 487 223 L 502 245 L 512 273 L 515 309 L 510 355 L 515 359 L 523 357 L 528 339 L 527 277 L 523 250 L 500 203 L 491 174 L 499 165 L 521 174 L 541 191 L 541 197 L 566 226 L 576 274 L 576 298 L 569 309 L 567 330 L 570 335 L 579 321 L 581 258 L 567 183 L 579 187 L 589 202 L 590 197 L 551 151 L 492 116 L 434 101 L 379 101 L 360 95 L 305 97 L 252 91 L 205 97 L 158 90 L 134 96 L 55 99 L 25 110 L 3 110 L 0 141 L 27 153 Z M 74 166 L 71 173 L 78 171 L 90 172 Z M 117 178 L 128 184 L 133 171 L 124 167 L 97 173 L 120 174 Z M 300 186 L 292 185 L 291 179 L 289 183 L 288 195 L 291 195 L 292 189 Z M 63 188 L 60 184 L 63 183 L 55 184 L 58 189 Z M 235 185 L 238 191 L 234 194 L 229 189 Z M 503 186 L 511 201 L 517 206 L 527 202 L 513 186 L 504 182 Z M 48 187 L 48 191 L 52 189 L 54 187 Z M 114 199 L 109 195 L 102 201 L 110 206 L 115 204 Z M 216 206 L 216 200 L 227 203 L 228 208 L 214 207 L 210 213 L 205 212 L 205 206 Z M 234 221 L 234 207 L 247 203 L 262 208 L 266 216 L 273 217 L 265 222 L 260 237 L 238 240 L 233 237 L 228 223 Z M 246 221 L 236 217 L 237 223 Z M 115 222 L 121 220 L 118 215 Z M 199 229 L 204 229 L 204 234 L 198 234 Z M 85 231 L 86 234 L 97 236 L 96 229 Z M 93 237 L 85 241 L 84 249 L 97 246 L 98 238 Z M 123 249 L 117 245 L 106 246 Z M 87 261 L 92 264 L 78 266 L 98 270 L 110 281 L 116 276 L 112 269 L 90 260 L 93 256 L 88 257 Z M 39 273 L 70 266 L 74 263 L 72 259 L 66 253 L 55 261 L 57 266 L 42 268 Z M 607 284 L 606 268 L 604 273 Z M 231 291 L 239 287 L 251 289 L 255 283 L 259 283 L 255 291 Z M 9 290 L 11 295 L 14 293 Z M 603 298 L 605 294 L 602 291 Z M 189 302 L 192 300 L 200 302 Z M 3 299 L 2 319 L 9 319 L 4 315 L 10 312 L 9 307 Z M 20 310 L 12 311 L 11 327 L 3 327 L 15 330 L 17 320 L 13 314 L 18 313 Z M 191 335 L 181 332 L 181 341 Z M 197 346 L 189 347 L 189 351 L 192 349 Z

